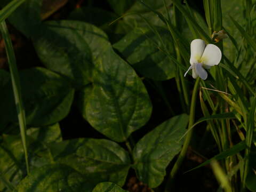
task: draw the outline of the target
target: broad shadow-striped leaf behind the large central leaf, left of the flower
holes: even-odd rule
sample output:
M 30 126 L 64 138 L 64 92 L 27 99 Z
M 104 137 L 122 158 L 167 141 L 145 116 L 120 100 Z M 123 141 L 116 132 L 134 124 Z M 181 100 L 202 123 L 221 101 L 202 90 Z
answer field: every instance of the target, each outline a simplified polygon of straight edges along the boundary
M 164 81 L 175 76 L 175 63 L 167 57 L 164 48 L 175 55 L 174 42 L 169 30 L 162 27 L 156 30 L 165 45 L 149 28 L 135 28 L 113 46 L 141 75 Z

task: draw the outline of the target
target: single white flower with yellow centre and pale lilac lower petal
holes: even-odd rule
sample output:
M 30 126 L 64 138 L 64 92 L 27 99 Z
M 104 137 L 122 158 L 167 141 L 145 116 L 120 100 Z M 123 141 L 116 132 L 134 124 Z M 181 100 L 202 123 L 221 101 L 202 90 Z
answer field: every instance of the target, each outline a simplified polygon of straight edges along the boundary
M 190 67 L 186 71 L 184 77 L 188 71 L 192 69 L 193 78 L 201 77 L 207 78 L 207 72 L 205 69 L 210 69 L 214 65 L 218 65 L 221 60 L 221 51 L 218 46 L 213 44 L 207 44 L 202 39 L 194 39 L 190 44 Z M 205 68 L 205 69 L 204 69 Z

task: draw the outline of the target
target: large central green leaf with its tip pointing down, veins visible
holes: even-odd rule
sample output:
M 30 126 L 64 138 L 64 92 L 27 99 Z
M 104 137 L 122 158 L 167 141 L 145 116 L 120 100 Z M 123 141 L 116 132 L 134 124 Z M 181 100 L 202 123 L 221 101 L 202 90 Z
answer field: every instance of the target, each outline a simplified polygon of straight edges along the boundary
M 151 115 L 147 90 L 135 71 L 111 47 L 95 62 L 93 91 L 86 105 L 87 121 L 107 137 L 125 141 Z

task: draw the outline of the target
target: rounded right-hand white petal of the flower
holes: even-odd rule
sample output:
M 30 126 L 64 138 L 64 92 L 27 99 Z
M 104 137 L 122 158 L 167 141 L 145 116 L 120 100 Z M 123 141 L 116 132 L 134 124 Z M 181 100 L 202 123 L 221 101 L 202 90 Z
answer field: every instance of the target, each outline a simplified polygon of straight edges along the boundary
M 218 65 L 221 60 L 220 48 L 213 44 L 206 45 L 204 53 L 201 58 L 201 62 L 205 68 L 210 68 L 214 65 Z

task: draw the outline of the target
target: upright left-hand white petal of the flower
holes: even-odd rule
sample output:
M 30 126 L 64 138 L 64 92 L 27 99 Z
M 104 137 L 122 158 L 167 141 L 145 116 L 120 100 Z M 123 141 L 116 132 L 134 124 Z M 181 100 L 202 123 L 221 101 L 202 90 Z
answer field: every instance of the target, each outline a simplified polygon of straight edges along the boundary
M 204 52 L 205 42 L 202 39 L 194 39 L 190 44 L 190 65 L 198 62 Z

